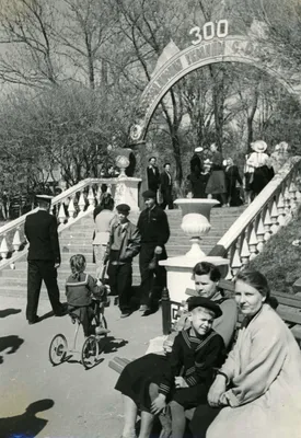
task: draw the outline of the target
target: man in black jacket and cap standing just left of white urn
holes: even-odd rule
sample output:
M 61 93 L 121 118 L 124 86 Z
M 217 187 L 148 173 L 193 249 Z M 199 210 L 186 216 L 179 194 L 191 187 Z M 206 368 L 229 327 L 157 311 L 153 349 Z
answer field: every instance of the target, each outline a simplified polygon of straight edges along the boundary
M 140 311 L 148 316 L 158 309 L 163 288 L 166 286 L 166 269 L 159 261 L 167 258 L 165 244 L 170 238 L 170 226 L 165 211 L 155 203 L 155 193 L 142 193 L 146 209 L 141 211 L 137 227 L 141 234 L 139 268 L 141 276 Z

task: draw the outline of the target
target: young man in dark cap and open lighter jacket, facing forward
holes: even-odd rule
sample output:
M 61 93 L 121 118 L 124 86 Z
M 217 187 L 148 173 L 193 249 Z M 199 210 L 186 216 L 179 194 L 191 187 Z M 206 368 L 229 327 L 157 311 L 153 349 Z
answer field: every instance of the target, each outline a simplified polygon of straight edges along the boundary
M 108 261 L 109 287 L 119 298 L 121 318 L 126 318 L 131 313 L 131 264 L 140 251 L 141 237 L 138 228 L 128 219 L 130 207 L 119 204 L 116 209 L 118 221 L 114 221 L 111 228 L 104 262 Z

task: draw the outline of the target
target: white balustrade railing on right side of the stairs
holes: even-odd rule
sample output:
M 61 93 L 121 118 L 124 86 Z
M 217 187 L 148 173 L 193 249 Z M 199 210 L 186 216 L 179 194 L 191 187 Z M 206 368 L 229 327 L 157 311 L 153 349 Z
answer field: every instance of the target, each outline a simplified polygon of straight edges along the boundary
M 265 242 L 291 220 L 301 201 L 300 181 L 301 157 L 293 157 L 211 250 L 208 255 L 219 255 L 230 261 L 227 278 L 235 276 L 248 261 L 256 257 Z

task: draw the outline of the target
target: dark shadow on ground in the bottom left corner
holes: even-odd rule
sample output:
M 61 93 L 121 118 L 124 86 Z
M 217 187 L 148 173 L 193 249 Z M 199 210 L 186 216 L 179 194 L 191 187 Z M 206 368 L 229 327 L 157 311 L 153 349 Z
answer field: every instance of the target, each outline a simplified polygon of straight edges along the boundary
M 36 437 L 48 423 L 47 419 L 38 418 L 36 414 L 50 410 L 54 404 L 55 402 L 50 399 L 38 400 L 30 404 L 24 414 L 0 418 L 1 438 Z

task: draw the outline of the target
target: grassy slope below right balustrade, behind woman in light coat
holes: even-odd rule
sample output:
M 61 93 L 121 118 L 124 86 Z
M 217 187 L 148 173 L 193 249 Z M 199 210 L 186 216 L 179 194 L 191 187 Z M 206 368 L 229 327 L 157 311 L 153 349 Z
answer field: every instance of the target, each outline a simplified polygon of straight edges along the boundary
M 296 218 L 278 230 L 263 252 L 248 263 L 248 267 L 261 270 L 267 277 L 271 290 L 293 293 L 292 285 L 301 277 L 301 245 L 292 245 L 298 239 L 301 241 L 301 208 Z

